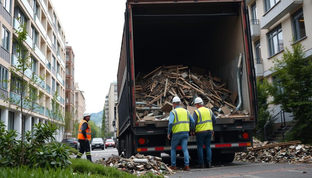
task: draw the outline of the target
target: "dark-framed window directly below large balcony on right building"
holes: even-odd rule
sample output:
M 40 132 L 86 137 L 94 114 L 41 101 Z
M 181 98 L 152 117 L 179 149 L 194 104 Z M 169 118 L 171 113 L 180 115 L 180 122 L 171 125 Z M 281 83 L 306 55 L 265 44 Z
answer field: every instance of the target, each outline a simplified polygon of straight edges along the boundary
M 284 49 L 282 27 L 278 26 L 268 33 L 269 54 L 270 56 Z

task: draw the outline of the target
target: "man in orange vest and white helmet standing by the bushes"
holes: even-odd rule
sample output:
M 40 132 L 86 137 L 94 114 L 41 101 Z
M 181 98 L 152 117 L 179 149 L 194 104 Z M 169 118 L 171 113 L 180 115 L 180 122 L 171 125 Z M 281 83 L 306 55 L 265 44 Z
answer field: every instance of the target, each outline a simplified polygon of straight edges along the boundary
M 89 161 L 91 160 L 90 143 L 91 140 L 91 128 L 89 125 L 91 115 L 89 113 L 83 114 L 83 119 L 81 120 L 78 128 L 78 142 L 80 143 L 80 149 L 76 158 L 81 158 L 85 152 L 85 156 Z

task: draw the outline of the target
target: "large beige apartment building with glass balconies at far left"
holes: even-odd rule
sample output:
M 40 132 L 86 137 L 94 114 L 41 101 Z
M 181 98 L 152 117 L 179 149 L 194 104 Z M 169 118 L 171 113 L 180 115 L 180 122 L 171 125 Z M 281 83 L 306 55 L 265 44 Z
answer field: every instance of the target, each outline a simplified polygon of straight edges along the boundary
M 61 111 L 65 111 L 65 33 L 60 18 L 52 5 L 51 0 L 3 0 L 0 2 L 0 33 L 2 36 L 0 47 L 1 80 L 12 79 L 9 68 L 17 64 L 16 43 L 12 39 L 17 37 L 15 30 L 21 23 L 26 23 L 28 32 L 25 45 L 33 48 L 30 54 L 32 68 L 27 69 L 27 77 L 33 75 L 44 77 L 44 81 L 38 83 L 38 88 L 43 94 L 39 103 L 43 103 L 37 112 L 27 118 L 25 131 L 32 130 L 34 123 L 51 122 L 48 110 L 51 109 L 51 100 L 55 92 L 58 92 L 57 102 Z M 18 79 L 12 79 L 18 82 Z M 4 82 L 0 87 L 1 94 L 5 97 L 20 97 Z M 37 91 L 39 94 L 39 91 Z M 14 103 L 5 103 L 0 99 L 1 121 L 6 129 L 22 131 L 23 113 L 17 111 Z M 57 121 L 60 123 L 61 121 Z M 63 131 L 60 129 L 56 140 L 61 141 Z

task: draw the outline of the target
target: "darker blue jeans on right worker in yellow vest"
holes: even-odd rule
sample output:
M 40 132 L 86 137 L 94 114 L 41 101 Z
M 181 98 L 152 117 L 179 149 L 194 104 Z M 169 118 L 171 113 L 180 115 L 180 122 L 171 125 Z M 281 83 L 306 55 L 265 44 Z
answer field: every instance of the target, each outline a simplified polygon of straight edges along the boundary
M 211 148 L 210 141 L 212 132 L 202 132 L 196 134 L 198 164 L 204 164 L 204 154 L 202 152 L 202 145 L 205 145 L 207 152 L 207 162 L 211 162 Z

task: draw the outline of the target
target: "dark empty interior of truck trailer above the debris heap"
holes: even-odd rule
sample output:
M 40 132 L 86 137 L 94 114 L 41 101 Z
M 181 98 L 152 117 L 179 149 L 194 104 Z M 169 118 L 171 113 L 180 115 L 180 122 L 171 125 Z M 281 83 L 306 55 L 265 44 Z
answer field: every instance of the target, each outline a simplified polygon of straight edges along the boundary
M 133 5 L 135 75 L 147 74 L 162 65 L 182 64 L 228 79 L 228 88 L 237 90 L 238 56 L 245 51 L 240 2 L 190 4 Z M 241 109 L 250 111 L 244 60 L 241 80 Z

